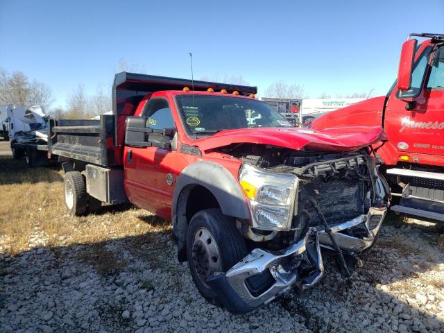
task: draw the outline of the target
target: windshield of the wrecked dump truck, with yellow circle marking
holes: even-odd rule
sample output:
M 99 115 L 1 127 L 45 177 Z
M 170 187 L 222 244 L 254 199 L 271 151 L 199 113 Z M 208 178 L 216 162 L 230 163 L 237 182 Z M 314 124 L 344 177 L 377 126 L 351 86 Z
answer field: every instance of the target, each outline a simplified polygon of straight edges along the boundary
M 180 117 L 189 134 L 253 127 L 293 127 L 262 101 L 232 96 L 178 95 Z

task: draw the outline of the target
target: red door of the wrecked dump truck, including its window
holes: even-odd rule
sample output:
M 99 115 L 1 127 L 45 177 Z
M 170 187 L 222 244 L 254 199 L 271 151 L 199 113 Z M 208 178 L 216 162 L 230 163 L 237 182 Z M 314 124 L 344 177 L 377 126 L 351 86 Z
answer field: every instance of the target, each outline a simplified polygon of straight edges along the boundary
M 143 116 L 148 117 L 147 128 L 155 130 L 174 129 L 174 121 L 169 102 L 164 98 L 148 101 Z M 149 133 L 148 139 L 153 144 L 171 143 L 171 137 L 160 133 Z M 170 148 L 157 146 L 135 148 L 125 147 L 125 187 L 132 203 L 150 212 L 169 219 L 173 186 L 169 180 L 176 179 L 175 171 L 167 168 L 166 161 L 171 161 Z M 171 162 L 169 162 L 171 166 Z

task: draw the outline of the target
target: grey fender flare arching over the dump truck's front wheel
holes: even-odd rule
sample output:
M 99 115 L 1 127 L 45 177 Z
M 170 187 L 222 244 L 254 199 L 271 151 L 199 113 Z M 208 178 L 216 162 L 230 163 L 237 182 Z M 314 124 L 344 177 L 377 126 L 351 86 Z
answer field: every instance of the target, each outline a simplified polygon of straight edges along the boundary
M 200 161 L 183 169 L 174 187 L 171 216 L 173 218 L 173 234 L 178 239 L 179 262 L 187 260 L 187 198 L 195 186 L 205 187 L 219 203 L 223 214 L 250 219 L 250 209 L 246 203 L 244 192 L 232 174 L 214 162 Z

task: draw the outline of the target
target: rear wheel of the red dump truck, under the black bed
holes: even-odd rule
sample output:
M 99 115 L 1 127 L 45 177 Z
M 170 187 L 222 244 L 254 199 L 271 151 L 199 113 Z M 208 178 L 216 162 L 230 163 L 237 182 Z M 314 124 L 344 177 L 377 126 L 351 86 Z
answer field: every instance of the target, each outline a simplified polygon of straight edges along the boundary
M 85 180 L 78 171 L 69 171 L 64 179 L 65 205 L 72 216 L 85 214 L 88 195 L 86 193 Z

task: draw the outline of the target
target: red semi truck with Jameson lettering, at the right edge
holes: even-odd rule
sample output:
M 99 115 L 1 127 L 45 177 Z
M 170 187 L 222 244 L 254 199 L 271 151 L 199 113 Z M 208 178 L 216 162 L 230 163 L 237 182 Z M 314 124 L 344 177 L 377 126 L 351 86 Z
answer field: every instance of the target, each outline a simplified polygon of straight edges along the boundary
M 425 37 L 418 45 L 412 37 Z M 444 35 L 413 33 L 402 45 L 398 80 L 386 96 L 336 110 L 314 130 L 383 126 L 388 142 L 374 146 L 391 185 L 391 210 L 444 221 Z

